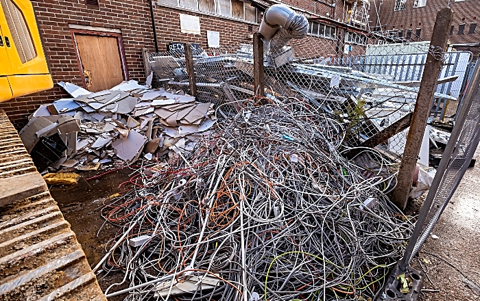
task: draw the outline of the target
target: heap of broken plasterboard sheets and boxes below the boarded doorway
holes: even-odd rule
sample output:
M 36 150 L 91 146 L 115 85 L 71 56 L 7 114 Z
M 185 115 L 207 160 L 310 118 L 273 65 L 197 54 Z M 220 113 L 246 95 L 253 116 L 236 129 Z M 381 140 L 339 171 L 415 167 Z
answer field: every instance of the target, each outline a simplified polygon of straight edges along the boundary
M 72 99 L 40 106 L 20 137 L 40 172 L 51 167 L 98 169 L 116 159 L 136 161 L 193 150 L 215 124 L 212 103 L 182 92 L 128 81 L 91 93 L 60 83 Z

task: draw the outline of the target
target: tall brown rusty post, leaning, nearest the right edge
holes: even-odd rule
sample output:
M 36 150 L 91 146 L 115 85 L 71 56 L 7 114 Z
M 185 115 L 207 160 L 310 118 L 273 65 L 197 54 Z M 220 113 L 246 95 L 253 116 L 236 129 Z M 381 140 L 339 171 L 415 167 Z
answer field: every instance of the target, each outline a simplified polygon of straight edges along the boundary
M 448 40 L 448 28 L 450 28 L 452 22 L 452 14 L 451 8 L 442 8 L 437 13 L 437 18 L 435 19 L 427 62 L 423 70 L 422 81 L 420 81 L 420 88 L 415 109 L 413 109 L 400 170 L 398 170 L 398 183 L 392 195 L 392 202 L 402 210 L 407 206 L 413 170 L 415 170 L 424 131 L 427 127 L 427 118 L 429 117 L 433 94 L 435 93 L 438 75 L 440 75 L 440 68 L 442 67 L 443 53 Z

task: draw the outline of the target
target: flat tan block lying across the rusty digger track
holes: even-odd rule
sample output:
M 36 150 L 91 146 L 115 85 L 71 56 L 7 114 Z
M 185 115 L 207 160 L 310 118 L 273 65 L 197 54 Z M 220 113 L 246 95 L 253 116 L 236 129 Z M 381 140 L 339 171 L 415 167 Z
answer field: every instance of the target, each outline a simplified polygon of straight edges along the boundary
M 47 183 L 38 172 L 0 179 L 0 207 L 47 190 Z

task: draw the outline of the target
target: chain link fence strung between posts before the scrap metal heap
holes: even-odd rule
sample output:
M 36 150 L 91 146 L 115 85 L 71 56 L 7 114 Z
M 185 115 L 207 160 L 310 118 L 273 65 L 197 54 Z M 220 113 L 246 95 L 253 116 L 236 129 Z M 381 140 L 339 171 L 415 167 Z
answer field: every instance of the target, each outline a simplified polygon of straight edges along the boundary
M 431 49 L 428 42 L 378 32 L 316 28 L 317 34 L 311 22 L 311 34 L 290 40 L 279 53 L 265 49 L 265 97 L 273 102 L 295 97 L 330 113 L 344 125 L 348 146 L 361 144 L 413 111 L 427 53 L 443 60 L 431 118 L 443 120 L 446 108 L 456 107 L 463 96 L 470 52 L 444 52 Z M 148 53 L 148 60 L 156 88 L 190 93 L 183 51 Z M 220 114 L 228 115 L 254 99 L 251 43 L 193 49 L 193 60 L 199 101 L 215 103 Z M 376 147 L 399 161 L 407 130 Z

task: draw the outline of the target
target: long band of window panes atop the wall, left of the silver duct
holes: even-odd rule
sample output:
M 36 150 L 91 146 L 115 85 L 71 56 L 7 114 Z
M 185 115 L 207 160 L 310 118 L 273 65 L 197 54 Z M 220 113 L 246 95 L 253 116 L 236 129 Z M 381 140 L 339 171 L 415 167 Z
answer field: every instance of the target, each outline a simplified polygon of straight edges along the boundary
M 256 8 L 249 2 L 241 0 L 158 0 L 158 2 L 257 23 Z

